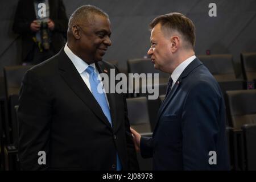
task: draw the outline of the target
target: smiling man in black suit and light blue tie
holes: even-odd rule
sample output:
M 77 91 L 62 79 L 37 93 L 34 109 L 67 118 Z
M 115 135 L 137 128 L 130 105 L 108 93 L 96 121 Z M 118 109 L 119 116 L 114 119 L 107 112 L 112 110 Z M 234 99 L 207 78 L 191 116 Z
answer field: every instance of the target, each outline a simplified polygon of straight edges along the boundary
M 64 49 L 24 76 L 18 110 L 23 169 L 138 169 L 126 98 L 97 90 L 99 73 L 118 73 L 101 61 L 110 34 L 104 11 L 81 6 L 69 19 Z

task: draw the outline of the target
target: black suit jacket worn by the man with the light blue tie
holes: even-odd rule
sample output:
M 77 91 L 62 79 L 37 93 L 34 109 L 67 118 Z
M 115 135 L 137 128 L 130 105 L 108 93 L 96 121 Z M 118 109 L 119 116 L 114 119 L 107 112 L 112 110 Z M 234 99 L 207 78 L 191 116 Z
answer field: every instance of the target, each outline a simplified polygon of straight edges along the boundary
M 103 61 L 98 71 L 117 69 Z M 123 94 L 107 94 L 113 128 L 63 50 L 30 69 L 19 97 L 19 159 L 23 169 L 138 169 Z M 46 151 L 46 165 L 38 152 Z M 113 165 L 114 164 L 114 165 Z

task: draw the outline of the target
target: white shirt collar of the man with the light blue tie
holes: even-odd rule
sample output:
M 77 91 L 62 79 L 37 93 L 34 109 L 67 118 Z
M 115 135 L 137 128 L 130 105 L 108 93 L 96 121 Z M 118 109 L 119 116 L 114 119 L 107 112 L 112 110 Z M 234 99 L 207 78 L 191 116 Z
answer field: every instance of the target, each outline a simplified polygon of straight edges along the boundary
M 75 55 L 75 53 L 73 53 L 71 51 L 71 49 L 68 47 L 67 43 L 65 44 L 64 51 L 67 54 L 68 58 L 75 65 L 79 74 L 84 72 L 87 69 L 87 67 L 89 67 L 89 65 L 87 63 L 85 63 L 85 61 L 83 61 L 80 57 L 78 57 L 77 55 Z M 96 70 L 95 63 L 90 64 L 90 66 L 92 66 L 94 68 L 94 71 Z

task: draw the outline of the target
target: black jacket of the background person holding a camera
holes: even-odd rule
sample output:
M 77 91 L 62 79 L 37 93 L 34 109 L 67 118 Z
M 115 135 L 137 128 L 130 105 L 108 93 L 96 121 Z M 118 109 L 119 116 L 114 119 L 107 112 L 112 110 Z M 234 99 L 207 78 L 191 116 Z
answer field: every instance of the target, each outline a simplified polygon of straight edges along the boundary
M 55 28 L 51 31 L 52 48 L 57 53 L 65 43 L 68 19 L 62 0 L 49 0 L 48 2 L 49 18 L 55 23 Z M 13 31 L 22 36 L 22 61 L 26 59 L 34 45 L 32 37 L 35 36 L 35 32 L 30 30 L 30 24 L 35 19 L 34 0 L 20 0 L 15 13 Z

